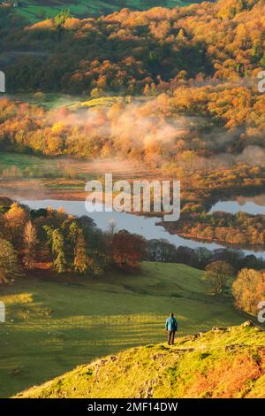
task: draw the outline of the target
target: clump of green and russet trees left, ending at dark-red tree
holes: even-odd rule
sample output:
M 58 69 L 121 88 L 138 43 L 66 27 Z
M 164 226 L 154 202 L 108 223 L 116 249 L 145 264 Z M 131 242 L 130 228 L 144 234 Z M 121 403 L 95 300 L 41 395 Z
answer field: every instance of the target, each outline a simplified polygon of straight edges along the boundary
M 0 281 L 19 273 L 48 269 L 55 273 L 99 275 L 109 267 L 126 272 L 140 266 L 145 242 L 125 230 L 103 233 L 87 216 L 76 218 L 64 210 L 30 210 L 1 198 Z

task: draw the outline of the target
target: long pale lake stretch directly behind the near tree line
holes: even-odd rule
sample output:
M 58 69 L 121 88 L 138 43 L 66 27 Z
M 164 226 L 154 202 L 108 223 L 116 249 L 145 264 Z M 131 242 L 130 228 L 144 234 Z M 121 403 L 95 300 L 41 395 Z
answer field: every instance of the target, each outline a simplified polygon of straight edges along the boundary
M 157 226 L 160 219 L 148 218 L 144 216 L 133 215 L 128 212 L 87 212 L 84 201 L 64 201 L 64 200 L 21 200 L 21 204 L 28 205 L 31 209 L 38 210 L 41 208 L 53 207 L 54 209 L 64 208 L 64 212 L 81 217 L 87 215 L 95 221 L 97 227 L 106 231 L 110 226 L 110 221 L 114 220 L 117 224 L 117 230 L 125 229 L 130 233 L 142 235 L 151 240 L 164 239 L 178 246 L 186 246 L 191 249 L 205 247 L 208 250 L 221 249 L 225 246 L 218 243 L 202 243 L 191 239 L 182 238 L 179 235 L 170 235 L 164 227 Z M 245 254 L 256 254 L 265 257 L 265 252 L 254 250 L 242 250 Z

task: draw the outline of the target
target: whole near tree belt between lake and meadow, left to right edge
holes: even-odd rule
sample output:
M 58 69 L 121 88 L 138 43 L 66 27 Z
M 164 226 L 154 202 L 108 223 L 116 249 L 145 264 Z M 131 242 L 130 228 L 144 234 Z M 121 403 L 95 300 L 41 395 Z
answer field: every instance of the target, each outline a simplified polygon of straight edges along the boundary
M 231 286 L 235 305 L 246 312 L 257 312 L 265 297 L 265 261 L 239 250 L 193 250 L 163 239 L 147 241 L 118 231 L 114 222 L 102 232 L 87 216 L 76 218 L 52 207 L 30 210 L 4 197 L 0 212 L 0 283 L 30 276 L 35 270 L 77 277 L 96 277 L 113 268 L 133 273 L 142 260 L 148 260 L 204 270 L 202 278 L 211 282 L 213 294 L 227 294 Z

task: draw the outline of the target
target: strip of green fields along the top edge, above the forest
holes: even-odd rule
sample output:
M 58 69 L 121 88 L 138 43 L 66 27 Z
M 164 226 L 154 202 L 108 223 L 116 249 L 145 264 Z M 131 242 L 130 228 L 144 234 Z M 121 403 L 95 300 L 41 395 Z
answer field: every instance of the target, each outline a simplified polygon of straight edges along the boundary
M 128 7 L 132 10 L 146 10 L 155 6 L 176 7 L 179 5 L 185 6 L 191 3 L 200 2 L 189 0 L 77 0 L 75 2 L 72 2 L 71 0 L 68 0 L 67 2 L 57 0 L 25 0 L 19 2 L 17 12 L 34 22 L 54 17 L 58 12 L 66 8 L 69 8 L 73 16 L 83 17 L 109 14 L 124 7 Z

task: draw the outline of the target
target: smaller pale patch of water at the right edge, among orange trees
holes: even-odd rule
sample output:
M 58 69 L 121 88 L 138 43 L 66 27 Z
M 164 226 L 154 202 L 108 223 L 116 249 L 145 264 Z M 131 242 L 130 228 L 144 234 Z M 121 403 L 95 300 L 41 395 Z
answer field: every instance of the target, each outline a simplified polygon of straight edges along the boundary
M 259 196 L 239 196 L 232 201 L 219 201 L 214 204 L 209 213 L 222 211 L 235 214 L 237 212 L 247 212 L 252 215 L 265 215 L 265 195 Z

